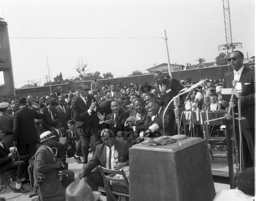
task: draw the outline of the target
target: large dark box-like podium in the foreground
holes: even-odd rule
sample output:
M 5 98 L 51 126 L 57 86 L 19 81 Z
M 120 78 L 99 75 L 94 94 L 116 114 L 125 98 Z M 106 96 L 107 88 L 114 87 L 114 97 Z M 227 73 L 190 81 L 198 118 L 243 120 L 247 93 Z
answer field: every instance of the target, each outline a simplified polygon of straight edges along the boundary
M 160 139 L 163 136 L 156 138 Z M 154 140 L 156 140 L 154 139 Z M 130 148 L 130 201 L 213 200 L 214 181 L 205 140 Z

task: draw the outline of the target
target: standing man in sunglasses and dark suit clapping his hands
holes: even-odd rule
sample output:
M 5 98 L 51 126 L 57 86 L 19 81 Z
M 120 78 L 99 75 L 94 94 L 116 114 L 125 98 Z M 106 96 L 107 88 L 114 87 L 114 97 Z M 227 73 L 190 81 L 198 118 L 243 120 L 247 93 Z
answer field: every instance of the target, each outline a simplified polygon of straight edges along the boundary
M 89 95 L 89 87 L 86 83 L 81 83 L 78 90 L 80 96 L 73 101 L 72 110 L 76 121 L 76 132 L 81 139 L 83 162 L 86 164 L 88 162 L 90 138 L 92 137 L 92 143 L 99 139 L 97 111 L 100 111 L 100 107 L 95 98 Z

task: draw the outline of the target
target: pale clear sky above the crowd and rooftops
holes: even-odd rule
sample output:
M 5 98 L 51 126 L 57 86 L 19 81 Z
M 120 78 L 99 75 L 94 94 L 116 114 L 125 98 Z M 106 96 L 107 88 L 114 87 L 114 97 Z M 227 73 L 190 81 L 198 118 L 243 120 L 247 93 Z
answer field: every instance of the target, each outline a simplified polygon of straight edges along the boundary
M 231 0 L 233 42 L 255 54 L 255 2 Z M 167 62 L 215 61 L 225 44 L 222 0 L 0 1 L 8 23 L 14 85 L 43 85 L 48 75 L 78 77 L 79 59 L 88 72 L 131 74 Z M 1 55 L 0 55 L 1 56 Z M 48 62 L 47 62 L 48 59 Z M 4 82 L 0 72 L 0 84 Z

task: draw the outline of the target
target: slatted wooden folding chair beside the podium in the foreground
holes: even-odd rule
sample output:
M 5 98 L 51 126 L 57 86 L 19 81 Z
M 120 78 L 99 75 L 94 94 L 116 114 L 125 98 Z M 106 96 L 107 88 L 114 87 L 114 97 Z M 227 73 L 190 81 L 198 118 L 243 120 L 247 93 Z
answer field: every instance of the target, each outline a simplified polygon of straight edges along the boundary
M 109 191 L 114 201 L 120 201 L 122 197 L 129 200 L 129 181 L 123 170 L 109 170 L 99 166 L 99 171 L 103 177 L 106 189 Z M 114 178 L 116 174 L 122 175 L 122 178 Z M 118 196 L 118 199 L 116 196 Z

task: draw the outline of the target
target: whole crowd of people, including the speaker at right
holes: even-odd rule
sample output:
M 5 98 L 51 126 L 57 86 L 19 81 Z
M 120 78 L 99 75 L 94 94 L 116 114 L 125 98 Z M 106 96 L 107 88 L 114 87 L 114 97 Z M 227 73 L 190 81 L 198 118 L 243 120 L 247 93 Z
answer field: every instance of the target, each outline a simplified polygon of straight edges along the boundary
M 74 93 L 55 90 L 45 97 L 1 95 L 0 171 L 18 169 L 15 190 L 26 192 L 22 187 L 28 179 L 24 167 L 32 165 L 37 175 L 34 190 L 42 200 L 65 200 L 65 189 L 74 179 L 83 177 L 90 188 L 97 191 L 98 187 L 105 187 L 98 165 L 108 169 L 129 166 L 129 148 L 144 137 L 176 135 L 179 129 L 176 119 L 180 119 L 184 111 L 199 112 L 205 107 L 211 111 L 224 111 L 228 103 L 219 100 L 217 87 L 232 87 L 232 80 L 237 76 L 235 72 L 240 73 L 240 77 L 235 77 L 237 80 L 249 83 L 244 85 L 241 102 L 242 115 L 251 118 L 242 124 L 248 144 L 246 167 L 251 167 L 254 165 L 254 149 L 250 146 L 254 143 L 254 138 L 251 139 L 251 133 L 254 136 L 254 72 L 244 68 L 242 57 L 239 51 L 231 53 L 230 64 L 234 70 L 231 77 L 228 75 L 218 81 L 204 79 L 199 82 L 201 85 L 190 79 L 178 81 L 164 77 L 162 72 L 156 71 L 154 86 L 148 83 L 99 83 L 94 78 L 91 88 L 81 82 Z M 173 102 L 169 104 L 185 88 L 189 91 L 189 87 L 190 93 L 179 97 L 178 106 Z M 202 93 L 206 96 L 205 101 Z M 177 108 L 179 114 L 175 113 Z M 183 127 L 181 132 L 184 130 Z M 16 157 L 9 151 L 13 146 L 18 150 Z M 93 157 L 88 161 L 91 151 Z M 114 162 L 115 151 L 118 152 L 118 162 Z M 76 176 L 68 170 L 66 157 L 74 157 L 77 163 L 84 164 Z M 62 181 L 58 176 L 60 170 L 67 175 Z M 42 174 L 44 181 L 38 183 L 37 177 Z M 112 200 L 108 189 L 106 196 Z

